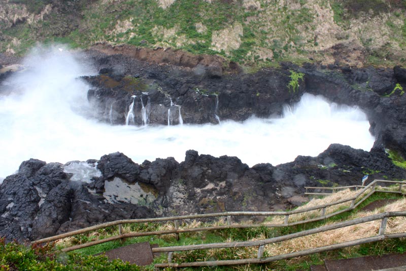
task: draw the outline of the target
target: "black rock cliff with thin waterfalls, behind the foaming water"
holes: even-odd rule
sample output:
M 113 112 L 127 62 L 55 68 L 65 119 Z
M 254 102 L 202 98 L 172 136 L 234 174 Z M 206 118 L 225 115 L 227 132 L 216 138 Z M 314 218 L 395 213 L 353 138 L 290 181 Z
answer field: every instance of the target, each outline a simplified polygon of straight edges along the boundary
M 138 49 L 132 50 L 132 54 L 130 47 L 125 52 L 118 51 L 123 54 L 88 51 L 100 71 L 98 76 L 85 78 L 93 86 L 88 99 L 98 108 L 100 121 L 125 124 L 131 104 L 134 112 L 141 112 L 143 105 L 149 106 L 148 119 L 136 114 L 134 125 L 146 121 L 167 125 L 168 109 L 174 125 L 179 123 L 179 112 L 183 122 L 191 124 L 217 124 L 217 116 L 244 121 L 252 115 L 279 116 L 285 104 L 297 102 L 307 92 L 338 104 L 359 106 L 368 116 L 370 132 L 376 136 L 375 146 L 406 156 L 406 115 L 402 110 L 406 105 L 403 95 L 406 70 L 399 66 L 351 68 L 304 64 L 299 67 L 287 62 L 281 63 L 280 68 L 247 74 L 235 64 L 214 75 L 212 67 L 218 62 L 211 62 L 211 56 L 207 59 L 201 56 L 200 63 L 188 67 L 181 63 L 156 64 L 164 57 L 155 58 L 152 61 L 155 63 L 140 61 Z M 295 89 L 290 85 L 293 73 L 302 74 Z

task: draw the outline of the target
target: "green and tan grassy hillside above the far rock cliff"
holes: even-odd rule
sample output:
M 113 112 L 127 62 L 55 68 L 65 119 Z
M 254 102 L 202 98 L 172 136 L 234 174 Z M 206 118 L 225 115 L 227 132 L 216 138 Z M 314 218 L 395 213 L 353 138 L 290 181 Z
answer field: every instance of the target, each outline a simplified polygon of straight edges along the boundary
M 0 51 L 40 42 L 172 47 L 247 65 L 391 65 L 406 58 L 405 0 L 2 0 Z

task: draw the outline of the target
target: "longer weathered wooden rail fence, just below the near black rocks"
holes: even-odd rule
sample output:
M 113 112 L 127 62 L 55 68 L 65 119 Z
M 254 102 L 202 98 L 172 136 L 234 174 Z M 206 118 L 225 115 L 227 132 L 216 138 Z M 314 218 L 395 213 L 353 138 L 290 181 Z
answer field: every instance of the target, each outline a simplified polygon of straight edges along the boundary
M 390 190 L 388 188 L 383 188 L 381 190 L 377 190 L 376 185 L 378 183 L 386 183 L 386 184 L 392 184 L 392 185 L 399 185 L 399 188 L 396 190 Z M 310 208 L 304 208 L 304 209 L 295 209 L 295 210 L 290 210 L 286 212 L 223 212 L 223 213 L 213 213 L 213 214 L 200 214 L 200 215 L 187 215 L 187 216 L 173 216 L 173 217 L 162 217 L 162 218 L 149 218 L 149 219 L 129 219 L 129 220 L 117 220 L 113 222 L 107 222 L 91 227 L 87 227 L 84 229 L 80 230 L 75 230 L 39 240 L 35 240 L 31 242 L 32 244 L 41 244 L 41 243 L 47 243 L 47 242 L 53 242 L 58 239 L 66 238 L 66 237 L 71 237 L 74 235 L 78 234 L 83 234 L 87 233 L 90 231 L 95 231 L 98 229 L 104 229 L 107 227 L 111 226 L 118 226 L 119 227 L 119 234 L 115 236 L 111 236 L 105 239 L 99 239 L 99 240 L 94 240 L 85 244 L 80 244 L 72 247 L 67 247 L 62 249 L 62 251 L 73 251 L 77 249 L 82 249 L 106 242 L 110 242 L 113 240 L 121 239 L 123 240 L 124 238 L 129 238 L 129 237 L 139 237 L 139 236 L 151 236 L 151 235 L 162 235 L 162 234 L 177 234 L 177 237 L 179 238 L 180 233 L 185 233 L 185 232 L 198 232 L 198 231 L 208 231 L 208 230 L 219 230 L 219 229 L 230 229 L 230 228 L 255 228 L 255 227 L 286 227 L 286 226 L 293 226 L 293 225 L 298 225 L 298 224 L 304 224 L 308 222 L 314 222 L 314 221 L 319 221 L 323 219 L 327 219 L 330 217 L 333 217 L 335 215 L 348 212 L 349 210 L 352 210 L 356 208 L 359 204 L 361 204 L 364 200 L 366 200 L 370 195 L 374 194 L 375 192 L 387 192 L 387 193 L 398 193 L 398 194 L 403 194 L 402 189 L 406 188 L 406 182 L 398 182 L 398 181 L 390 181 L 390 180 L 374 180 L 371 182 L 369 185 L 363 187 L 355 196 L 339 200 L 336 202 L 331 202 L 328 204 L 323 204 L 323 205 L 318 205 L 315 207 L 310 207 Z M 319 189 L 319 188 L 318 188 Z M 349 203 L 350 205 L 346 208 L 339 209 L 339 210 L 334 210 L 332 213 L 327 212 L 327 208 L 337 206 L 339 204 L 343 203 Z M 320 215 L 314 218 L 310 219 L 304 219 L 300 221 L 289 221 L 289 219 L 292 217 L 292 215 L 296 214 L 304 214 L 307 212 L 314 212 L 319 210 Z M 283 223 L 277 223 L 277 224 L 266 224 L 266 223 L 261 223 L 261 224 L 232 224 L 231 218 L 233 216 L 283 216 L 284 220 Z M 227 220 L 227 225 L 221 225 L 221 226 L 212 226 L 212 227 L 199 227 L 199 228 L 179 228 L 180 221 L 184 220 L 189 220 L 189 219 L 202 219 L 202 218 L 216 218 L 216 217 L 225 217 Z M 131 224 L 131 223 L 159 223 L 159 222 L 168 222 L 168 221 L 174 221 L 175 223 L 175 229 L 173 230 L 161 230 L 161 231 L 146 231 L 146 232 L 129 232 L 129 233 L 123 233 L 122 230 L 122 225 L 123 224 Z

